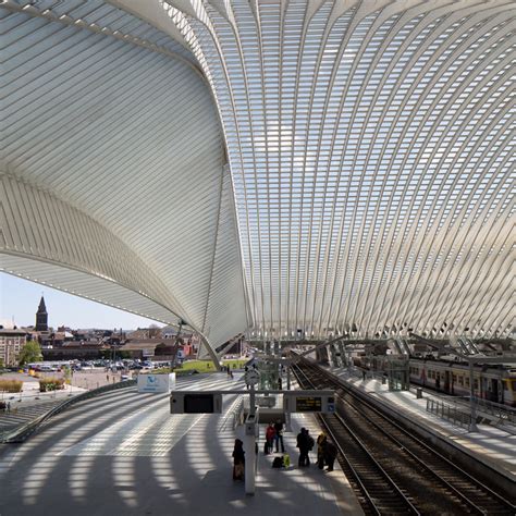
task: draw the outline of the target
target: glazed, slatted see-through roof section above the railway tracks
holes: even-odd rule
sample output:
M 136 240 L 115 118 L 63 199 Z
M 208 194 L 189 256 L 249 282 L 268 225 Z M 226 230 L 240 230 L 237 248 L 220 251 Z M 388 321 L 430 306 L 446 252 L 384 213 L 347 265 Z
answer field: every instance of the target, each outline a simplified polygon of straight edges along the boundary
M 514 3 L 163 7 L 221 114 L 255 336 L 509 332 Z

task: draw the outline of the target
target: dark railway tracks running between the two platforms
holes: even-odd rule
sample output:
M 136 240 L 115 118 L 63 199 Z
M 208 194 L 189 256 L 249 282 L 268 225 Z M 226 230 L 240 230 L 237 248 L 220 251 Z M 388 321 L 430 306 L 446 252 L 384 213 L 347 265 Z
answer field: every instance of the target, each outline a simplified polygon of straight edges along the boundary
M 304 389 L 334 389 L 336 414 L 321 420 L 366 514 L 514 515 L 507 501 L 416 439 L 335 377 L 300 360 Z

